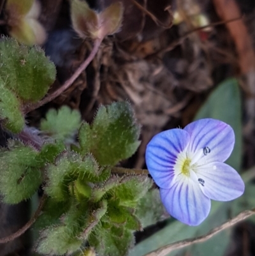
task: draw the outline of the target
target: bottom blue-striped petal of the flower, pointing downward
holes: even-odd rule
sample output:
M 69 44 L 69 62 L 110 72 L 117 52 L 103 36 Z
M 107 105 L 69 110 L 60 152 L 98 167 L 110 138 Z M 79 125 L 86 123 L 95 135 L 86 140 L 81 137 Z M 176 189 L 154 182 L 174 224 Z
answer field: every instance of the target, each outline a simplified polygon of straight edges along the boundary
M 168 213 L 187 225 L 199 225 L 210 212 L 210 199 L 189 178 L 184 177 L 168 190 L 161 188 L 160 194 Z

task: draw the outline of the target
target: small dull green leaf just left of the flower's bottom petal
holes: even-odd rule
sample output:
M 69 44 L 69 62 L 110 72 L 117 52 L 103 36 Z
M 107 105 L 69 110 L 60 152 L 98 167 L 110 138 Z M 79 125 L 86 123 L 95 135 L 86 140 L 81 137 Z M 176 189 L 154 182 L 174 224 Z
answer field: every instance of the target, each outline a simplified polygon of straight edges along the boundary
M 159 222 L 165 214 L 166 211 L 161 202 L 158 189 L 152 189 L 147 192 L 145 196 L 140 199 L 136 207 L 136 216 L 140 219 L 142 227 L 147 227 Z

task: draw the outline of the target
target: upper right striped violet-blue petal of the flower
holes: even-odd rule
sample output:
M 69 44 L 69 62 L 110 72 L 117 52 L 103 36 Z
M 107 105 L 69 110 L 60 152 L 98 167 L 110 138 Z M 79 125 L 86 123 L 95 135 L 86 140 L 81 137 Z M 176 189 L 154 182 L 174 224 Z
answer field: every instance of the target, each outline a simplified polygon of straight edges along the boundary
M 200 119 L 188 124 L 186 130 L 191 136 L 188 152 L 193 154 L 203 150 L 199 165 L 226 161 L 235 144 L 235 133 L 228 124 L 215 119 Z

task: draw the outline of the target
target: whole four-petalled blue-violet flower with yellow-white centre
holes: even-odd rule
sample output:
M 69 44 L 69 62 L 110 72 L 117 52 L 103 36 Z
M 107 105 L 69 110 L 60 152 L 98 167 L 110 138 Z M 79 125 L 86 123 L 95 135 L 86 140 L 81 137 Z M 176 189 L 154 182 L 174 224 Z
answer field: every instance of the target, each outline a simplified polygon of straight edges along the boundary
M 244 193 L 237 171 L 223 163 L 234 144 L 233 129 L 215 119 L 200 119 L 150 140 L 147 167 L 171 216 L 199 225 L 209 214 L 210 199 L 229 201 Z

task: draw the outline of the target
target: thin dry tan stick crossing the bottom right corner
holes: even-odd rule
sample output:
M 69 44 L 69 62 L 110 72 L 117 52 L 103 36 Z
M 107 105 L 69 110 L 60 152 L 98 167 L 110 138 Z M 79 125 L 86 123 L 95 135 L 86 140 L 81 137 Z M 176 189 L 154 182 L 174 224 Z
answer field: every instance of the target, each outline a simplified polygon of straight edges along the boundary
M 194 243 L 201 243 L 204 241 L 207 241 L 210 239 L 212 236 L 215 236 L 215 234 L 221 232 L 224 229 L 228 229 L 229 227 L 235 225 L 238 222 L 241 222 L 242 220 L 245 220 L 245 218 L 248 218 L 249 216 L 252 216 L 255 214 L 255 209 L 248 210 L 248 211 L 243 211 L 239 215 L 237 215 L 235 218 L 228 220 L 228 222 L 225 222 L 219 227 L 215 227 L 215 229 L 210 230 L 207 234 L 203 236 L 199 236 L 196 238 L 189 238 L 189 239 L 184 239 L 182 241 L 178 241 L 175 243 L 171 243 L 170 245 L 166 245 L 164 247 L 161 247 L 153 252 L 147 253 L 143 256 L 165 256 L 168 255 L 168 253 L 172 252 L 173 250 L 177 250 L 189 245 L 192 245 Z

